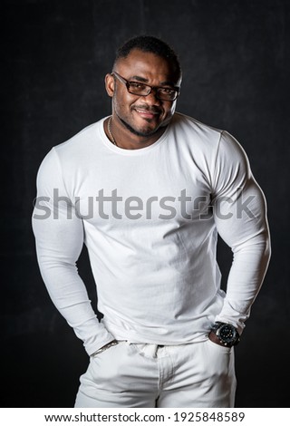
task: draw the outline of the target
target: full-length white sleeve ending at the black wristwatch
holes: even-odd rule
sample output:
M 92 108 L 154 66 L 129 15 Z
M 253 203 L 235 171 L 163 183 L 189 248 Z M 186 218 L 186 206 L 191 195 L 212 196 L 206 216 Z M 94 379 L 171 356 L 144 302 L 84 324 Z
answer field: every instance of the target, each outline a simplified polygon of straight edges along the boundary
M 221 134 L 213 167 L 215 222 L 219 236 L 233 252 L 227 295 L 216 321 L 235 325 L 241 334 L 270 259 L 266 198 L 245 151 L 226 131 Z

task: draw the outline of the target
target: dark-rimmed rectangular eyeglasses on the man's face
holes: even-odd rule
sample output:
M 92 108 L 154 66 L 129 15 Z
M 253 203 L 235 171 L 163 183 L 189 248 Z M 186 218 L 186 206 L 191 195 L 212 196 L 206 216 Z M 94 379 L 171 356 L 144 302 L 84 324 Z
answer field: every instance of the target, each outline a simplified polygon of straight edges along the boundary
M 179 96 L 179 87 L 162 87 L 162 86 L 150 86 L 144 82 L 131 82 L 126 80 L 120 74 L 112 72 L 111 75 L 117 77 L 117 79 L 126 85 L 127 91 L 137 96 L 148 96 L 153 90 L 156 93 L 156 97 L 161 101 L 175 101 Z

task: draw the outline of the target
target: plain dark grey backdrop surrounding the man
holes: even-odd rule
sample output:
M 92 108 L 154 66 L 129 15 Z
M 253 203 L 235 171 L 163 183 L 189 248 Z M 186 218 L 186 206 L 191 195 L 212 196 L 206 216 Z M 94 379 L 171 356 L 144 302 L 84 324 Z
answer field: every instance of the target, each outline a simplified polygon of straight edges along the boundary
M 103 78 L 131 35 L 160 36 L 183 68 L 178 111 L 230 131 L 266 194 L 273 256 L 237 346 L 237 407 L 286 407 L 289 379 L 289 2 L 2 1 L 3 407 L 72 407 L 88 358 L 39 274 L 31 214 L 53 145 L 110 113 Z M 224 280 L 229 251 L 220 245 Z M 92 294 L 86 252 L 80 274 Z

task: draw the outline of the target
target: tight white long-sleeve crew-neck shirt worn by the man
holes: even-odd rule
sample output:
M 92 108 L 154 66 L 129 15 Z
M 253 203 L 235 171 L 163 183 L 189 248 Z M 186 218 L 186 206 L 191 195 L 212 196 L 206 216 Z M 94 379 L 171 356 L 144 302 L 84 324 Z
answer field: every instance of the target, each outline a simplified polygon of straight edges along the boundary
M 91 354 L 113 338 L 185 344 L 215 321 L 244 328 L 270 243 L 265 197 L 226 131 L 176 113 L 123 150 L 98 121 L 53 147 L 37 176 L 36 251 L 54 305 Z M 220 288 L 218 234 L 233 251 Z M 99 322 L 76 262 L 86 245 Z

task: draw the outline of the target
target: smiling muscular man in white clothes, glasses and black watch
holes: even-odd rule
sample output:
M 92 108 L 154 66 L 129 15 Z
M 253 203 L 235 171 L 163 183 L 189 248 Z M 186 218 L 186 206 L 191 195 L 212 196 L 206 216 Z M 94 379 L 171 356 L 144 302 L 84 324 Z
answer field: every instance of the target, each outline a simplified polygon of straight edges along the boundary
M 234 346 L 269 260 L 266 202 L 226 131 L 175 112 L 181 71 L 138 36 L 112 112 L 47 154 L 33 227 L 43 281 L 90 364 L 75 407 L 233 407 Z M 227 295 L 216 260 L 232 248 Z M 88 248 L 99 322 L 75 263 Z

